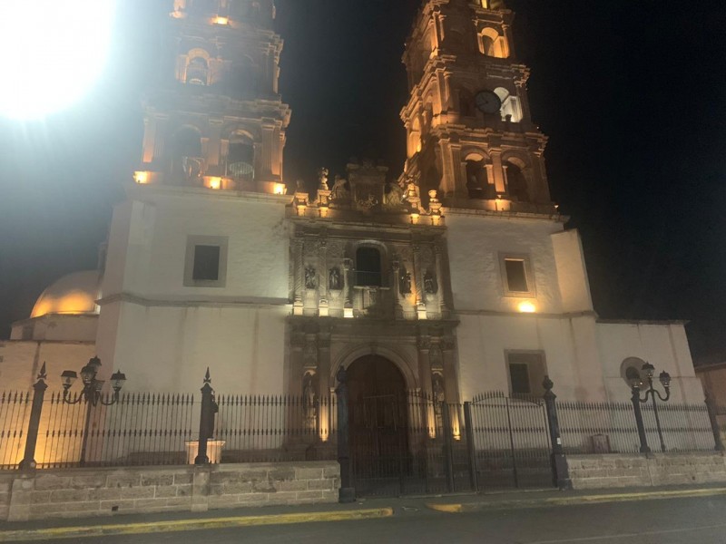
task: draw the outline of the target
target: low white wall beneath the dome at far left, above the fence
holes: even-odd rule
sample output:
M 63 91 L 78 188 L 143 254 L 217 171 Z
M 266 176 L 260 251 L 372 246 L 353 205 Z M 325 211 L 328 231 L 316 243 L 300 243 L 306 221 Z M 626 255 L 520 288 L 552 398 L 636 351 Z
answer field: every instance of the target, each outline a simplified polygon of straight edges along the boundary
M 0 390 L 29 390 L 45 363 L 48 391 L 62 391 L 61 373 L 79 372 L 94 355 L 92 342 L 0 342 Z

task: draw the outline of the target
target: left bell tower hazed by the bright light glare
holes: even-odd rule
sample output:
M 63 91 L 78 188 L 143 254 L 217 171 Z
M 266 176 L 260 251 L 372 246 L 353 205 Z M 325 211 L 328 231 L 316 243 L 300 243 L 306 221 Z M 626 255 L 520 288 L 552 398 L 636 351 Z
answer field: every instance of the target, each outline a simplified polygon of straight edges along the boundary
M 273 0 L 170 0 L 139 184 L 284 193 Z

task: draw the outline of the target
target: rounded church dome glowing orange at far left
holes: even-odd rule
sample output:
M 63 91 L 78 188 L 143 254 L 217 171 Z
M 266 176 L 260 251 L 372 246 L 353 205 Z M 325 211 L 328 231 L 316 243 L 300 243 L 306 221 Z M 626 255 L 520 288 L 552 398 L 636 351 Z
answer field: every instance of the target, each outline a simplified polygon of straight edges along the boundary
M 101 273 L 83 270 L 61 277 L 44 290 L 33 306 L 31 317 L 47 314 L 98 314 L 96 300 L 101 298 Z

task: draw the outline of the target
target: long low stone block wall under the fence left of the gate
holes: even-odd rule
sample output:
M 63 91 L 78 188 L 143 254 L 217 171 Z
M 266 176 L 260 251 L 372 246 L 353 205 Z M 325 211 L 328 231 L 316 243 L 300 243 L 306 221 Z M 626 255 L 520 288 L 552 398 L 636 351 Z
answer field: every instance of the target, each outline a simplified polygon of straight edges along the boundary
M 64 469 L 0 475 L 0 520 L 337 502 L 336 461 Z

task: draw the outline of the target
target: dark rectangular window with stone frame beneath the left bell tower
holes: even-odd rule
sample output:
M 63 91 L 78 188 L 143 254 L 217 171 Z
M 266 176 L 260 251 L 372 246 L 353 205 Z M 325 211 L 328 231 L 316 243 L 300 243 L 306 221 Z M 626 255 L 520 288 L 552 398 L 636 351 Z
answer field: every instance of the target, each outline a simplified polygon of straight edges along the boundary
M 228 238 L 188 236 L 184 261 L 185 287 L 225 287 Z

